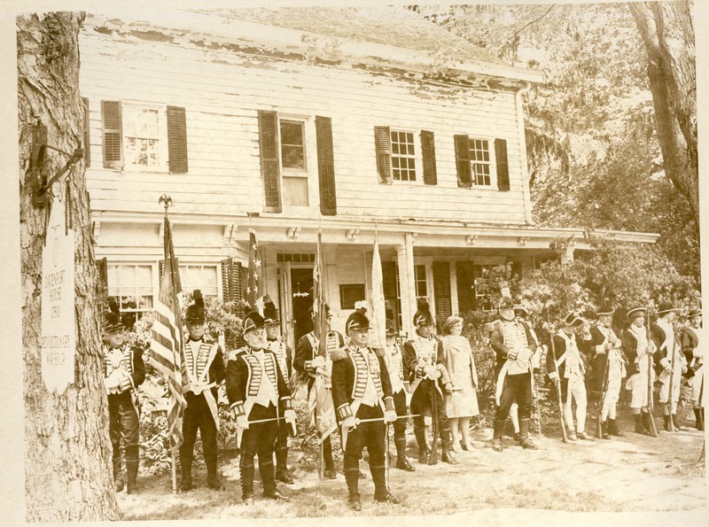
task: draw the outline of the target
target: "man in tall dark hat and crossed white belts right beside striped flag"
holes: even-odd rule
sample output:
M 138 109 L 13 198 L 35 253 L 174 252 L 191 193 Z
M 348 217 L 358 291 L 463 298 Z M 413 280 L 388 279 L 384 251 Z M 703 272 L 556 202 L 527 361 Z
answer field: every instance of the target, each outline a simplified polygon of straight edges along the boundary
M 205 456 L 206 486 L 215 491 L 223 491 L 224 485 L 216 473 L 216 433 L 219 429 L 217 386 L 224 380 L 224 356 L 221 346 L 205 335 L 205 302 L 199 289 L 192 293 L 192 300 L 184 317 L 188 333 L 184 343 L 187 379 L 183 379 L 183 383 L 186 381 L 183 392 L 187 408 L 184 410 L 183 444 L 180 446 L 180 490 L 188 492 L 194 486 L 192 459 L 199 430 Z

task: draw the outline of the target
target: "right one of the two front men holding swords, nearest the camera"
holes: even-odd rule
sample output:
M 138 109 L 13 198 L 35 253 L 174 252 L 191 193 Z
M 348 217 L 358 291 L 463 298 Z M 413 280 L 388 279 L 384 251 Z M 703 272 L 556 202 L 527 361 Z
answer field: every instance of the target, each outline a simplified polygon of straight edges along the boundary
M 332 354 L 332 400 L 343 427 L 349 504 L 362 510 L 359 461 L 367 448 L 374 500 L 400 503 L 386 488 L 386 422 L 396 421 L 392 387 L 381 354 L 369 347 L 370 322 L 360 312 L 347 319 L 349 343 Z

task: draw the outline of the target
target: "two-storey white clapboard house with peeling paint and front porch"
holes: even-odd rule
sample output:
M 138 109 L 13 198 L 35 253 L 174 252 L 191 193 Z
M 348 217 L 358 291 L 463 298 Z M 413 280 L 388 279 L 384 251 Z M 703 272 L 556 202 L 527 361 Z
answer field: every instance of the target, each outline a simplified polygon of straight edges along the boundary
M 88 15 L 80 46 L 96 254 L 126 310 L 149 310 L 158 292 L 163 193 L 184 289 L 238 297 L 254 229 L 291 342 L 318 231 L 340 330 L 370 298 L 375 236 L 409 334 L 417 298 L 439 317 L 464 313 L 480 308 L 486 268 L 524 274 L 559 240 L 567 258 L 588 249 L 582 229 L 532 221 L 522 98 L 541 73 L 415 12 Z

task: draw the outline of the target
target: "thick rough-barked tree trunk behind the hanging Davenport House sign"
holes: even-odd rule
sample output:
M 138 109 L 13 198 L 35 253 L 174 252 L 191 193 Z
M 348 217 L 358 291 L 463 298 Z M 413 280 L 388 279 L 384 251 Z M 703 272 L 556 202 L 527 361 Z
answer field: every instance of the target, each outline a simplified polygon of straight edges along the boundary
M 113 520 L 108 408 L 99 362 L 97 273 L 91 245 L 89 195 L 80 161 L 52 186 L 72 204 L 76 354 L 74 383 L 58 396 L 42 379 L 40 348 L 42 250 L 49 206 L 32 203 L 31 127 L 41 120 L 48 143 L 72 152 L 82 138 L 79 94 L 79 28 L 82 13 L 49 13 L 17 19 L 19 96 L 19 211 L 22 280 L 22 344 L 25 403 L 25 495 L 27 522 Z M 48 177 L 66 164 L 48 150 Z M 57 199 L 55 198 L 55 200 Z

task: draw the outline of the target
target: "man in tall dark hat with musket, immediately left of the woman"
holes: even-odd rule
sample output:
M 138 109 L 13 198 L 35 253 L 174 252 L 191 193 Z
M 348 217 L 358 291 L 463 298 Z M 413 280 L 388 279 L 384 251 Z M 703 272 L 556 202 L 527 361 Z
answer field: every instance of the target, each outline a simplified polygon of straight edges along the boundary
M 450 425 L 443 401 L 443 390 L 452 391 L 453 384 L 446 370 L 443 345 L 433 337 L 433 318 L 428 302 L 419 303 L 413 322 L 416 336 L 404 345 L 403 362 L 404 376 L 409 380 L 412 392 L 411 413 L 419 415 L 414 417 L 418 462 L 425 463 L 429 459 L 425 425 L 427 421 L 437 419 L 441 460 L 456 465 L 456 458 L 450 450 Z

